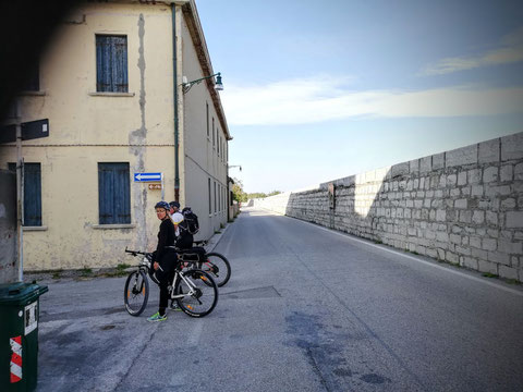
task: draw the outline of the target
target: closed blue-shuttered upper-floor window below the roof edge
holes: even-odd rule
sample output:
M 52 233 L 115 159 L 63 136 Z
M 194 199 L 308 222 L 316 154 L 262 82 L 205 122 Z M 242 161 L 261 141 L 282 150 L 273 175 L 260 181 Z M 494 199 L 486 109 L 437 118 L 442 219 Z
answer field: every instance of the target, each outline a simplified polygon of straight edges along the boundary
M 126 36 L 96 36 L 96 90 L 127 93 Z

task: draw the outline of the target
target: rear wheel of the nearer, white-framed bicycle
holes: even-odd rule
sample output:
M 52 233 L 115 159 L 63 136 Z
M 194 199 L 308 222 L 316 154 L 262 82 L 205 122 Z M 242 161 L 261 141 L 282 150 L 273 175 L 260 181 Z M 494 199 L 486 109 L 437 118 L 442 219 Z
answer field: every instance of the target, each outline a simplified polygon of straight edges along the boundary
M 198 269 L 182 271 L 180 274 L 174 285 L 174 295 L 185 296 L 177 298 L 178 306 L 191 317 L 210 314 L 218 303 L 218 286 L 212 278 Z M 187 295 L 190 293 L 192 294 Z

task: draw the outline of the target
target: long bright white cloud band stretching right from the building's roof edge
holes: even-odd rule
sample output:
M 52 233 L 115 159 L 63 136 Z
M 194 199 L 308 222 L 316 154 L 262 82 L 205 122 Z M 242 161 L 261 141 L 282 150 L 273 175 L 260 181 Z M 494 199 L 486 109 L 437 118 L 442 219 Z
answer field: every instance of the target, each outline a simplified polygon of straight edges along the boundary
M 228 84 L 221 98 L 228 122 L 236 125 L 304 124 L 363 115 L 489 115 L 523 108 L 523 87 L 354 91 L 346 87 L 348 81 L 324 75 L 257 86 Z

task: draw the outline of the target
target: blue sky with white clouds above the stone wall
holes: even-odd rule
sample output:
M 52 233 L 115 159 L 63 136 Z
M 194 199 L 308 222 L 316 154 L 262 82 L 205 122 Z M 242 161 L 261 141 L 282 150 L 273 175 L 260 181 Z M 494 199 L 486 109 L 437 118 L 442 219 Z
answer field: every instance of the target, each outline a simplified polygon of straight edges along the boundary
M 523 4 L 196 0 L 247 193 L 523 131 Z

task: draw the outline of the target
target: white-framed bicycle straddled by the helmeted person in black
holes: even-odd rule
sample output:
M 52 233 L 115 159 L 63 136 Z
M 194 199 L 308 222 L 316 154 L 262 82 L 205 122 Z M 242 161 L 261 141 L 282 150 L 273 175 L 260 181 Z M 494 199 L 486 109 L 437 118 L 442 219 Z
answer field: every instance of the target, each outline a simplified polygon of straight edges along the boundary
M 149 275 L 153 254 L 127 248 L 125 253 L 134 257 L 144 256 L 138 268 L 129 274 L 123 294 L 127 313 L 131 316 L 139 316 L 145 310 L 149 298 L 147 275 Z M 197 268 L 182 270 L 181 262 L 174 268 L 174 277 L 168 290 L 170 299 L 175 301 L 180 309 L 191 317 L 207 316 L 218 303 L 218 286 L 214 279 Z

